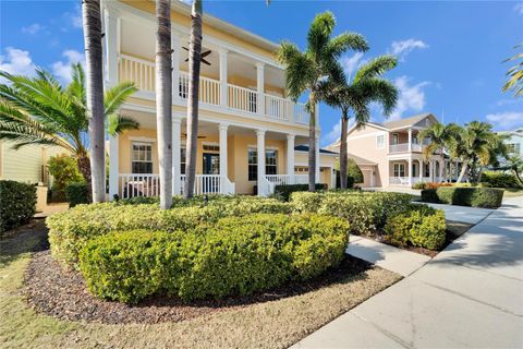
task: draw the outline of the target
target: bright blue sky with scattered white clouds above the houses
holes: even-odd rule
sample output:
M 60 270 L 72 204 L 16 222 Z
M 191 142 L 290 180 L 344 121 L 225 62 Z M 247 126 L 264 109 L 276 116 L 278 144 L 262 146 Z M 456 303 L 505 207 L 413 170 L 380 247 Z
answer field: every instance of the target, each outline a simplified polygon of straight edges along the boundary
M 83 60 L 81 1 L 0 1 L 0 69 L 28 74 L 35 65 L 66 81 L 72 61 Z M 362 61 L 397 53 L 388 73 L 400 89 L 392 119 L 433 112 L 447 122 L 490 121 L 497 130 L 523 125 L 523 98 L 502 94 L 513 56 L 523 41 L 523 2 L 472 1 L 205 1 L 204 11 L 279 43 L 304 48 L 318 12 L 337 17 L 336 34 L 363 34 L 370 50 L 348 52 L 350 72 Z M 205 35 L 205 33 L 204 33 Z M 151 38 L 154 39 L 154 38 Z M 373 119 L 384 121 L 379 108 Z M 320 108 L 321 144 L 338 137 L 339 112 Z

